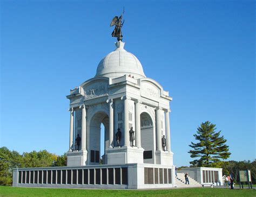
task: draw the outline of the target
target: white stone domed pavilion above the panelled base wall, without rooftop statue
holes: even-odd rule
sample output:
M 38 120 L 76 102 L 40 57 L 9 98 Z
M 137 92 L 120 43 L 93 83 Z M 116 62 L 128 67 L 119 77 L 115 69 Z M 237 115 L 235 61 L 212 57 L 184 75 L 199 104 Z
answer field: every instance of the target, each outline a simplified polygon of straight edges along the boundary
M 66 96 L 70 100 L 68 166 L 99 164 L 102 123 L 103 164 L 173 165 L 169 123 L 172 97 L 157 81 L 146 78 L 142 64 L 124 49 L 124 44 L 118 41 L 116 50 L 99 62 L 95 77 Z M 131 127 L 135 131 L 134 146 L 130 142 Z M 118 129 L 122 133 L 119 146 Z

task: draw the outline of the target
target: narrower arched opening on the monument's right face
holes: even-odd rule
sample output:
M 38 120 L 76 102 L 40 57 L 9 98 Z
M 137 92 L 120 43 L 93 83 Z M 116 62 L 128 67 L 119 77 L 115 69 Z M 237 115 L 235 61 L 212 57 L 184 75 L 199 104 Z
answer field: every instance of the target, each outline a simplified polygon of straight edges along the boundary
M 144 149 L 144 163 L 154 164 L 154 125 L 152 118 L 146 112 L 140 114 L 140 138 Z

